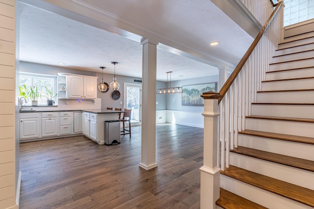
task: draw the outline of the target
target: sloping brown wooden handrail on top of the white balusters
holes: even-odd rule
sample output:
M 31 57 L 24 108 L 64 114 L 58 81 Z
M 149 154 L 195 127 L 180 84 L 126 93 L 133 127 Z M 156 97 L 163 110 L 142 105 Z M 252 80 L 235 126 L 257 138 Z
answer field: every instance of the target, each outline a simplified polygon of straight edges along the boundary
M 257 44 L 259 43 L 259 41 L 262 38 L 263 33 L 265 32 L 265 30 L 267 29 L 267 27 L 269 26 L 269 23 L 272 21 L 272 19 L 275 17 L 275 14 L 277 13 L 277 11 L 279 10 L 279 8 L 282 5 L 282 1 L 280 1 L 276 8 L 274 9 L 274 11 L 271 13 L 270 17 L 268 18 L 268 20 L 266 21 L 266 23 L 264 24 L 264 26 L 262 27 L 261 31 L 259 32 L 259 34 L 256 36 L 255 40 L 253 41 L 253 43 L 251 44 L 251 46 L 249 47 L 249 49 L 246 51 L 246 53 L 244 54 L 244 56 L 242 57 L 242 59 L 240 60 L 240 62 L 237 64 L 237 66 L 235 67 L 235 70 L 231 73 L 231 75 L 229 76 L 229 78 L 227 79 L 226 83 L 222 86 L 222 88 L 219 91 L 219 94 L 221 95 L 221 97 L 218 99 L 218 104 L 220 103 L 220 101 L 223 99 L 223 97 L 225 96 L 225 94 L 227 93 L 227 91 L 229 90 L 229 88 L 231 87 L 232 83 L 235 81 L 236 76 L 239 74 L 239 72 L 241 71 L 241 69 L 243 68 L 245 62 L 247 61 L 247 59 L 250 57 L 251 53 L 253 52 L 254 48 L 257 46 Z M 203 97 L 203 96 L 202 96 Z M 204 97 L 203 97 L 204 98 Z

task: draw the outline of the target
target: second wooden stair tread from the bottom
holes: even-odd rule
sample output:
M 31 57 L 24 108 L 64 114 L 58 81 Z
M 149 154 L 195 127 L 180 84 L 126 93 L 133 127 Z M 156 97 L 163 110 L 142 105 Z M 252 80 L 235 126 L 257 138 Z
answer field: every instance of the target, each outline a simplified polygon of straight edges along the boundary
M 257 186 L 291 200 L 314 207 L 314 190 L 296 186 L 278 179 L 230 165 L 220 172 L 241 182 Z

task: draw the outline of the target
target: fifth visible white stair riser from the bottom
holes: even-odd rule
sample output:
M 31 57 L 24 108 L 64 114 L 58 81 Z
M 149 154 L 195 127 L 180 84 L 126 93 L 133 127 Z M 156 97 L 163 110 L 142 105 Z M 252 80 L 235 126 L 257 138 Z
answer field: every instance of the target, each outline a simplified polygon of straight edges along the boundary
M 253 116 L 314 118 L 314 105 L 266 105 L 253 104 Z

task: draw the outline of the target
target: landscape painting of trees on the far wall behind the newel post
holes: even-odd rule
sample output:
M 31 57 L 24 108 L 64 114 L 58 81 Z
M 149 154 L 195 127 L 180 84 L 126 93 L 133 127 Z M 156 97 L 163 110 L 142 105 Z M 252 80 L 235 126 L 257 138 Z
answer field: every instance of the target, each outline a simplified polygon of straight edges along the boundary
M 216 92 L 216 83 L 183 86 L 182 105 L 204 106 L 201 95 L 204 92 Z

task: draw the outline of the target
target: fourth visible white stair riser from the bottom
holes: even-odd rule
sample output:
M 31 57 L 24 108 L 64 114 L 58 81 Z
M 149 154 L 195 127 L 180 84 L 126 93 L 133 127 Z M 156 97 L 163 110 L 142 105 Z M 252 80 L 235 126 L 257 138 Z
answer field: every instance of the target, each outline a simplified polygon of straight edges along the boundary
M 314 123 L 246 118 L 245 129 L 303 137 L 313 137 Z

